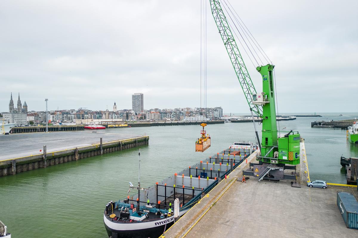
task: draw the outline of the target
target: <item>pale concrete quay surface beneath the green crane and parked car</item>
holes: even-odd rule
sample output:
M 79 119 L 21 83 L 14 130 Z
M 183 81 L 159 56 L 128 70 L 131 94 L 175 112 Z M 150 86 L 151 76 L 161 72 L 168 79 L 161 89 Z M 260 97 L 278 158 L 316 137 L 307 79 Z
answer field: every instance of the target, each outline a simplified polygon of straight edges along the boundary
M 248 162 L 255 162 L 254 154 Z M 290 180 L 258 182 L 257 178 L 250 177 L 246 183 L 242 183 L 241 171 L 246 170 L 246 167 L 247 164 L 242 164 L 241 168 L 235 169 L 226 183 L 219 183 L 163 236 L 358 237 L 358 230 L 346 228 L 337 208 L 337 192 L 350 192 L 358 198 L 357 188 L 307 187 L 309 171 L 303 140 L 301 164 L 297 166 L 301 174 L 297 182 L 301 188 L 291 187 Z

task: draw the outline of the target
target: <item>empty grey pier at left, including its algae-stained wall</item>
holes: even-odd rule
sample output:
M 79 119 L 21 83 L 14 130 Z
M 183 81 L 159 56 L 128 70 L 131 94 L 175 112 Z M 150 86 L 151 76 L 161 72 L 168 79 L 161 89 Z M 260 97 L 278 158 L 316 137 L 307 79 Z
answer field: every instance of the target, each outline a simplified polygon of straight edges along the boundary
M 19 150 L 16 151 L 21 151 L 21 153 L 12 154 L 9 153 L 9 151 L 5 151 L 5 150 L 2 150 L 0 152 L 0 176 L 16 174 L 32 169 L 45 168 L 47 166 L 52 166 L 59 163 L 66 163 L 69 161 L 74 161 L 87 157 L 103 155 L 105 153 L 143 146 L 143 145 L 147 145 L 149 142 L 149 136 L 133 136 L 133 135 L 110 134 L 110 133 L 86 133 L 86 132 L 67 132 L 66 135 L 64 135 L 64 133 L 54 132 L 53 134 L 59 135 L 60 138 L 54 141 L 48 141 L 49 146 L 48 145 L 40 146 L 37 145 L 38 143 L 37 144 L 34 143 L 35 145 L 33 145 L 33 143 L 31 143 L 32 141 L 30 142 L 28 141 L 30 146 L 26 146 L 26 144 L 25 146 L 21 146 L 19 143 L 13 145 L 13 143 L 11 143 L 11 141 L 13 140 L 6 140 L 8 141 L 7 143 L 9 144 L 10 148 L 11 146 L 18 146 Z M 87 141 L 83 140 L 82 138 L 83 136 L 86 136 L 86 134 L 89 137 L 86 138 Z M 95 134 L 95 136 L 93 136 L 92 134 Z M 19 137 L 19 138 L 15 138 L 19 142 L 21 141 L 21 139 L 23 139 L 20 138 L 20 136 L 25 137 L 28 135 L 29 134 L 25 134 L 25 135 L 15 134 L 15 135 L 9 135 L 4 137 L 7 137 L 9 139 L 14 139 L 15 137 Z M 52 138 L 55 138 L 57 135 L 53 135 Z M 78 138 L 78 135 L 81 135 L 81 138 Z M 46 137 L 48 135 L 44 135 L 44 136 Z M 61 136 L 67 136 L 68 140 L 62 141 Z M 113 140 L 113 137 L 116 139 Z M 51 137 L 47 137 L 47 138 L 51 138 Z M 96 143 L 93 143 L 93 140 L 95 138 L 96 138 Z M 111 140 L 103 142 L 103 138 L 106 138 L 106 140 L 108 139 Z M 71 141 L 74 143 L 69 144 L 69 142 Z M 47 142 L 44 142 L 43 144 L 45 143 Z M 4 144 L 6 144 L 6 142 Z M 9 147 L 4 145 L 4 148 L 9 148 Z M 41 148 L 42 152 L 40 152 L 39 150 L 38 152 L 35 153 L 33 151 L 31 152 L 30 150 L 32 150 L 35 147 Z M 26 148 L 28 148 L 27 152 L 25 151 Z

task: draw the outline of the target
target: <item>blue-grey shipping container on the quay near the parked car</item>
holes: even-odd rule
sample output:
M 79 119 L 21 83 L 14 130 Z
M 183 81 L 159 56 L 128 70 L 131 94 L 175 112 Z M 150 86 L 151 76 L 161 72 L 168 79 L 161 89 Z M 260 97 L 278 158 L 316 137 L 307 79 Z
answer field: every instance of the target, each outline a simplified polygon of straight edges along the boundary
M 358 202 L 353 194 L 337 192 L 337 206 L 347 228 L 358 229 Z

